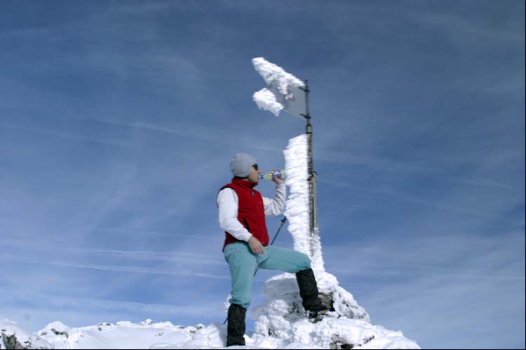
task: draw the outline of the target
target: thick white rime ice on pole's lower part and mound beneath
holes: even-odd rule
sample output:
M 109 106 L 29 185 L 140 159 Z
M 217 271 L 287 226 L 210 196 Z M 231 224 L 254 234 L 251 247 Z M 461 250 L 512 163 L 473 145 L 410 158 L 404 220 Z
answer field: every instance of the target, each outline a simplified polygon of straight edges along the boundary
M 306 320 L 294 274 L 278 274 L 263 287 L 264 303 L 252 310 L 256 342 L 279 339 L 282 344 L 298 344 L 312 349 L 419 349 L 402 332 L 386 330 L 370 323 L 369 314 L 351 293 L 339 286 L 336 276 L 325 272 L 319 235 L 310 235 L 309 172 L 307 135 L 289 140 L 285 151 L 285 185 L 289 188 L 285 216 L 296 251 L 311 258 L 322 301 L 331 309 L 318 323 Z M 316 228 L 316 232 L 318 229 Z M 296 346 L 296 345 L 295 345 Z

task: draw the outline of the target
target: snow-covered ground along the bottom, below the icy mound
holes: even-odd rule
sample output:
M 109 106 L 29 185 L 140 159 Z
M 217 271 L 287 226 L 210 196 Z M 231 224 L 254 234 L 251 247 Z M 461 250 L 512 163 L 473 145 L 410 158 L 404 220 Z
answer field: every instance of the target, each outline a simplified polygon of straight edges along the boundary
M 283 340 L 255 332 L 245 335 L 246 346 L 231 348 L 342 349 L 342 344 L 356 344 L 353 348 L 419 349 L 402 333 L 372 326 L 365 321 L 327 318 L 319 323 L 310 323 L 302 320 L 295 327 L 295 339 Z M 318 335 L 332 334 L 335 330 L 348 336 L 333 337 L 330 344 L 318 339 Z M 151 320 L 99 323 L 80 328 L 69 328 L 54 322 L 34 334 L 13 321 L 0 318 L 0 332 L 0 349 L 225 349 L 227 339 L 227 326 L 220 323 L 183 327 L 170 322 L 152 323 Z M 309 333 L 317 334 L 316 339 Z

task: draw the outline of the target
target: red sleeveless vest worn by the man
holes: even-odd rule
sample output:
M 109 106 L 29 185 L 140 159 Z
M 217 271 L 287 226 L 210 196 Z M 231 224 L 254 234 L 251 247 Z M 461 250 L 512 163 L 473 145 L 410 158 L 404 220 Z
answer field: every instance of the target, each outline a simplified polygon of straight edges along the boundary
M 269 245 L 269 233 L 265 223 L 265 210 L 261 193 L 254 190 L 257 183 L 232 179 L 232 182 L 221 188 L 231 188 L 238 195 L 238 221 L 254 236 L 263 246 Z M 224 232 L 223 249 L 227 244 L 239 241 L 229 232 Z

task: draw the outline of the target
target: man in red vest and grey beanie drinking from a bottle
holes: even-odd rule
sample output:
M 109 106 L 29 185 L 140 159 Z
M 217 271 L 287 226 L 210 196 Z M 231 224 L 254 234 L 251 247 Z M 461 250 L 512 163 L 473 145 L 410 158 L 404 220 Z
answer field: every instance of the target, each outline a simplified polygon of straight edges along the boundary
M 327 308 L 318 297 L 318 285 L 307 255 L 269 246 L 265 216 L 283 213 L 285 182 L 274 176 L 276 196 L 262 197 L 254 190 L 261 171 L 252 155 L 238 153 L 230 162 L 231 183 L 217 194 L 219 224 L 225 232 L 223 246 L 231 276 L 227 346 L 245 345 L 245 316 L 252 299 L 252 277 L 256 269 L 278 269 L 296 274 L 299 295 L 309 318 L 317 318 Z

